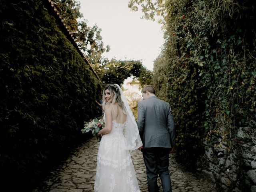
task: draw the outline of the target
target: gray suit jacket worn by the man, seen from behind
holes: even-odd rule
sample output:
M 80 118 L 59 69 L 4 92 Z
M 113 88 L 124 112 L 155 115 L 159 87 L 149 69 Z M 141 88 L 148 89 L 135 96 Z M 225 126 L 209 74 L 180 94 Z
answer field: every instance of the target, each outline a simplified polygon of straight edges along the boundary
M 175 125 L 169 103 L 156 96 L 138 102 L 137 125 L 144 148 L 174 146 Z

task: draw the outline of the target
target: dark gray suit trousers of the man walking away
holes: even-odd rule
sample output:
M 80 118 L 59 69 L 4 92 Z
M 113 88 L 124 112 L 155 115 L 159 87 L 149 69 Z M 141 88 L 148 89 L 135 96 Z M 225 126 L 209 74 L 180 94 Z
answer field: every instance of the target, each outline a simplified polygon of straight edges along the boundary
M 158 175 L 162 182 L 163 192 L 172 192 L 169 171 L 170 148 L 152 147 L 142 150 L 147 170 L 148 192 L 159 192 Z

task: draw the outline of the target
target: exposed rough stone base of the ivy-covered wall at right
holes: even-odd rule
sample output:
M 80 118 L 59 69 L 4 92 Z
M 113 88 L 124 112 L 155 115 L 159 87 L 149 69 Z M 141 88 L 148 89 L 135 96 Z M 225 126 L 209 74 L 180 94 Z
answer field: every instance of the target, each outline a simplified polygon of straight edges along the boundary
M 208 169 L 216 187 L 224 192 L 256 192 L 256 130 L 240 127 L 227 143 L 221 137 L 206 146 Z

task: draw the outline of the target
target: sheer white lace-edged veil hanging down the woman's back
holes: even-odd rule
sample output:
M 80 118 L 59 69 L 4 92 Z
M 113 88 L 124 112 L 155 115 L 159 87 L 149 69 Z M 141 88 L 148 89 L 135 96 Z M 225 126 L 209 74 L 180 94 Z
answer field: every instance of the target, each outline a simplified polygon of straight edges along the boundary
M 126 150 L 134 150 L 138 149 L 142 146 L 142 141 L 140 139 L 140 134 L 138 130 L 137 123 L 135 121 L 134 115 L 132 113 L 132 110 L 126 100 L 126 97 L 124 96 L 124 92 L 120 88 L 118 84 L 115 84 L 115 86 L 119 89 L 121 100 L 124 102 L 124 106 L 126 108 L 126 126 L 124 127 L 124 137 L 126 142 Z

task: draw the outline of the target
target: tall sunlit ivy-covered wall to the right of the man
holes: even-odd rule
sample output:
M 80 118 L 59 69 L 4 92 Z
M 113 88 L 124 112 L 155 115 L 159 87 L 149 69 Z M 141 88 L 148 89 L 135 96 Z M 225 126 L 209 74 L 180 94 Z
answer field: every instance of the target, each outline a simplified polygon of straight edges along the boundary
M 172 106 L 177 158 L 188 168 L 208 168 L 220 190 L 250 191 L 256 172 L 248 165 L 255 159 L 245 159 L 242 151 L 244 144 L 256 145 L 256 132 L 250 131 L 254 136 L 248 141 L 238 132 L 256 128 L 256 2 L 165 3 L 166 42 L 153 79 L 158 96 Z M 213 150 L 216 161 L 209 159 L 209 148 L 222 145 L 225 154 Z

